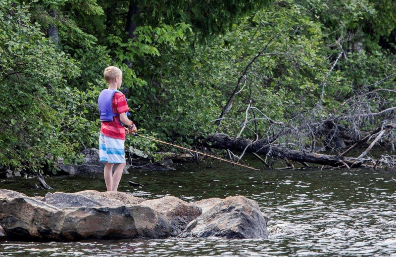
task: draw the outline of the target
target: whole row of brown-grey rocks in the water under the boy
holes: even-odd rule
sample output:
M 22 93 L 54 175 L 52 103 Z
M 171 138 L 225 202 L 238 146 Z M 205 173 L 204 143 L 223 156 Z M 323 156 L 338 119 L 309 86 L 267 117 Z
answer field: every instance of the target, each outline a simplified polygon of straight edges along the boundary
M 267 221 L 257 202 L 244 196 L 187 203 L 174 196 L 146 200 L 125 192 L 29 197 L 0 189 L 2 240 L 267 238 Z

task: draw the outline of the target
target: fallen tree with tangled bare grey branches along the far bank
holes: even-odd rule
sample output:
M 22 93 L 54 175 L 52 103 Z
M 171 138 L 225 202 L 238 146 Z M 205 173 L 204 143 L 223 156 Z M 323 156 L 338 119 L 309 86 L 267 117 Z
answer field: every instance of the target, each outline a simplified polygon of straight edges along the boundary
M 319 101 L 311 109 L 299 111 L 287 121 L 270 118 L 262 109 L 253 105 L 254 101 L 249 94 L 245 101 L 247 107 L 239 110 L 239 113 L 245 113 L 243 120 L 225 117 L 223 110 L 214 121 L 218 125 L 216 133 L 206 137 L 205 146 L 225 149 L 227 155 L 237 161 L 241 161 L 244 154 L 251 153 L 268 168 L 273 168 L 276 160 L 287 163 L 288 167 L 283 169 L 294 169 L 291 162 L 303 167 L 309 167 L 310 163 L 347 169 L 396 166 L 396 156 L 388 155 L 385 151 L 377 157 L 370 155 L 375 145 L 395 150 L 396 107 L 390 106 L 387 99 L 392 94 L 396 94 L 396 90 L 380 88 L 360 92 L 331 112 Z M 231 97 L 234 96 L 233 93 Z M 239 132 L 222 129 L 230 128 L 221 127 L 221 122 L 225 120 L 228 125 L 240 128 Z M 265 122 L 267 125 L 263 125 Z M 367 130 L 368 128 L 375 129 Z M 364 150 L 356 154 L 357 149 Z M 323 150 L 331 154 L 318 153 Z M 353 156 L 350 156 L 353 150 Z M 238 152 L 238 155 L 233 152 Z

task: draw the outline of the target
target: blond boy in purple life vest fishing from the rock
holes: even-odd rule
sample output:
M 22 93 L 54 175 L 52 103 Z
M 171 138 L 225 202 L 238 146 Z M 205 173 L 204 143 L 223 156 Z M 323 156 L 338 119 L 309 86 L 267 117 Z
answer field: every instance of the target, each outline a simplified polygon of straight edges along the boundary
M 108 89 L 100 92 L 98 98 L 101 120 L 99 136 L 99 161 L 104 164 L 104 181 L 107 191 L 117 191 L 125 168 L 125 134 L 136 132 L 138 129 L 126 115 L 129 111 L 125 95 L 118 91 L 122 84 L 122 71 L 114 66 L 107 67 L 104 79 Z M 113 174 L 113 166 L 115 166 Z

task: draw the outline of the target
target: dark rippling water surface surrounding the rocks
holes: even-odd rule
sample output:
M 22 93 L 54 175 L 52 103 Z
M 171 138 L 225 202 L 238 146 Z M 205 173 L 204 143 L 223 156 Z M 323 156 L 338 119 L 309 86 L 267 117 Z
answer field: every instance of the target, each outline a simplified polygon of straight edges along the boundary
M 128 180 L 145 187 L 134 188 Z M 105 191 L 102 175 L 48 178 L 54 191 Z M 30 196 L 35 179 L 5 180 L 1 188 Z M 244 195 L 270 217 L 265 240 L 161 239 L 71 243 L 0 242 L 0 257 L 396 257 L 396 171 L 250 171 L 179 165 L 176 171 L 134 171 L 119 191 L 146 199 L 173 195 L 187 202 Z

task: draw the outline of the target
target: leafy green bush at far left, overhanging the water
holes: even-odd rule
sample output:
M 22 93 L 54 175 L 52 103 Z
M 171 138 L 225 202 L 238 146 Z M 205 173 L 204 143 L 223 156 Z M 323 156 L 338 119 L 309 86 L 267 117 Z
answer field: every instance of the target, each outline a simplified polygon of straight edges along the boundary
M 31 23 L 29 7 L 0 3 L 0 163 L 39 171 L 74 155 L 80 148 L 74 132 L 83 134 L 90 122 L 81 115 L 85 93 L 66 86 L 80 70 Z

